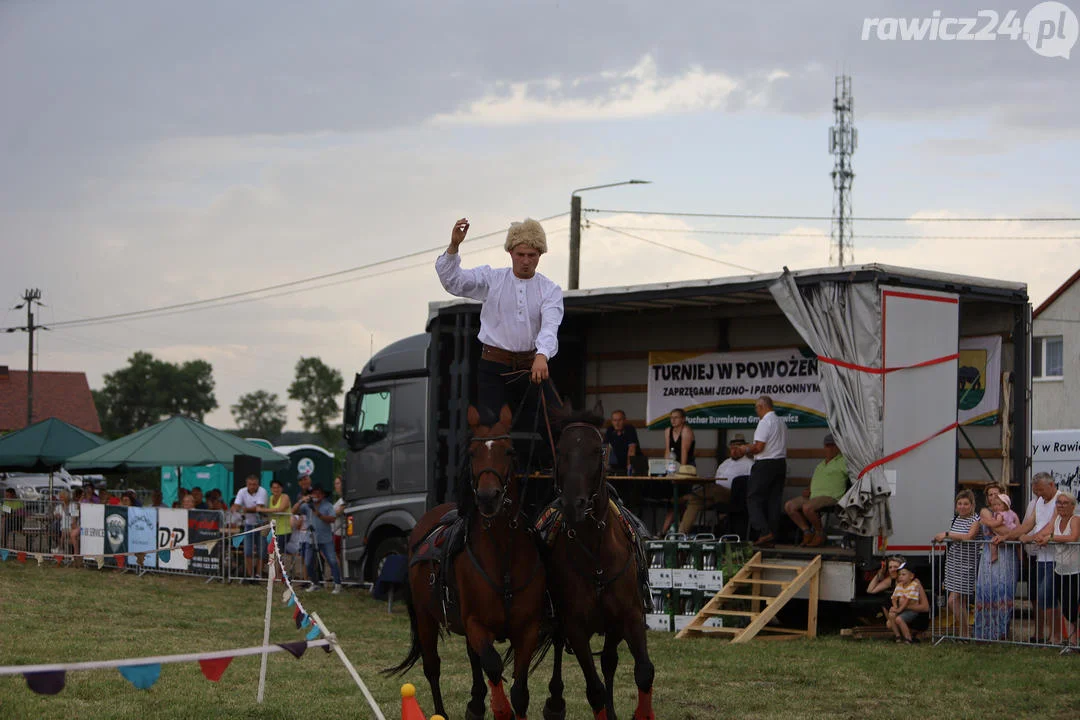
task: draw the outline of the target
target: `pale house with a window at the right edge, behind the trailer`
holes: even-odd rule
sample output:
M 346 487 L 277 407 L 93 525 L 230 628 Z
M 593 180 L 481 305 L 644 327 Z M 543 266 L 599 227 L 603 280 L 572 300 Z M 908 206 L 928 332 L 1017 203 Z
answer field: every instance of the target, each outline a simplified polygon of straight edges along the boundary
M 1080 429 L 1080 270 L 1031 317 L 1031 429 Z

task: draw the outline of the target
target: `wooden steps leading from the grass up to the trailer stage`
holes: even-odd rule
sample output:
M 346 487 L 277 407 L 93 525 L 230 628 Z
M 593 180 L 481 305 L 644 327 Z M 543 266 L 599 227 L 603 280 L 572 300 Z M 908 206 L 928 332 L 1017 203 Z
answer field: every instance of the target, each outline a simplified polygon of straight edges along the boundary
M 769 575 L 766 579 L 766 574 Z M 806 629 L 775 627 L 769 621 L 795 595 L 809 585 L 810 602 Z M 793 640 L 818 636 L 818 594 L 821 586 L 821 556 L 805 561 L 767 561 L 757 553 L 706 602 L 676 638 L 713 636 L 731 642 L 750 642 L 760 633 L 762 640 Z M 745 627 L 715 627 L 712 617 L 744 617 Z

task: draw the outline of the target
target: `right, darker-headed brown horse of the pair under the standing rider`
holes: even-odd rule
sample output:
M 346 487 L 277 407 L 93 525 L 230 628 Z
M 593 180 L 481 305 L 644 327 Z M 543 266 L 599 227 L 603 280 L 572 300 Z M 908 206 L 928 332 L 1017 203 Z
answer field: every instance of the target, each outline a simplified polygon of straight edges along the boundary
M 545 720 L 565 717 L 563 643 L 573 651 L 585 676 L 585 696 L 595 718 L 616 720 L 612 685 L 623 640 L 634 656 L 637 707 L 634 720 L 654 720 L 652 678 L 645 634 L 645 603 L 638 585 L 638 554 L 608 497 L 604 436 L 595 425 L 573 422 L 563 429 L 556 448 L 555 485 L 563 522 L 550 539 L 549 588 L 558 621 L 553 646 L 554 669 L 544 704 Z M 593 635 L 604 635 L 596 675 L 590 649 Z

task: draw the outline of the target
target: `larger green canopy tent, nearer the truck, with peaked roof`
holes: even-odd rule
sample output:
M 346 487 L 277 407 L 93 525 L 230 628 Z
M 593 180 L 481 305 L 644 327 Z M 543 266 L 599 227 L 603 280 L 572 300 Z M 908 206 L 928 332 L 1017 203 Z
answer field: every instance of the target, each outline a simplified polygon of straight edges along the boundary
M 264 470 L 288 467 L 285 456 L 179 416 L 70 458 L 64 466 L 72 472 L 213 464 L 232 470 L 238 454 L 258 458 Z

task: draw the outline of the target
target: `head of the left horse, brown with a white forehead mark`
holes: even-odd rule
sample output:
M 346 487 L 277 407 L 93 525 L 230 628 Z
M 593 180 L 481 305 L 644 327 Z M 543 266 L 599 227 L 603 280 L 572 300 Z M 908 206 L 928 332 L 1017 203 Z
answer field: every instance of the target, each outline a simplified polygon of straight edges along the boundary
M 512 421 L 513 416 L 508 405 L 502 406 L 498 422 L 489 427 L 480 424 L 476 408 L 469 408 L 472 491 L 476 508 L 485 518 L 495 517 L 504 505 L 515 500 L 511 497 L 514 475 L 514 446 L 510 440 Z

